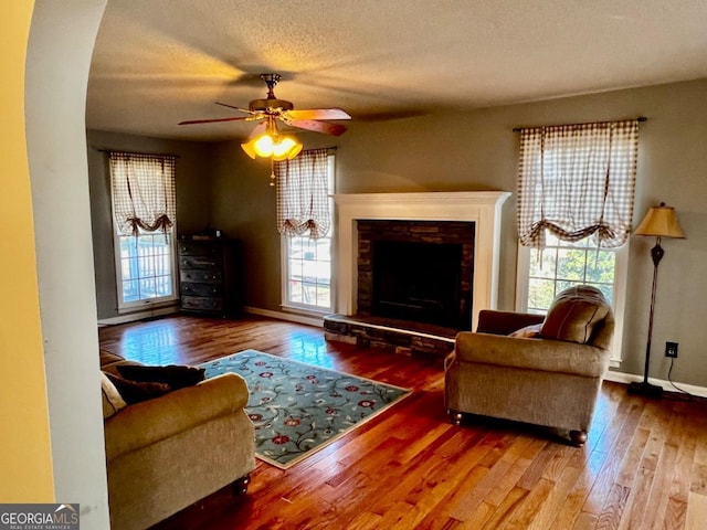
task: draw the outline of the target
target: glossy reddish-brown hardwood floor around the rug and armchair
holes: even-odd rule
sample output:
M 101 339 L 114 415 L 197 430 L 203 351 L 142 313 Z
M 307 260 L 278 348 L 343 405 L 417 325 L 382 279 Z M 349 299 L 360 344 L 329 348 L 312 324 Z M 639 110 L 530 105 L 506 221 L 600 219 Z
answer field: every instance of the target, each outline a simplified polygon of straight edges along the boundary
M 507 422 L 455 427 L 441 360 L 327 342 L 319 328 L 177 316 L 101 328 L 99 339 L 149 364 L 252 348 L 414 389 L 291 469 L 258 460 L 246 496 L 224 488 L 160 530 L 707 528 L 705 400 L 650 400 L 605 382 L 589 441 L 576 448 Z

